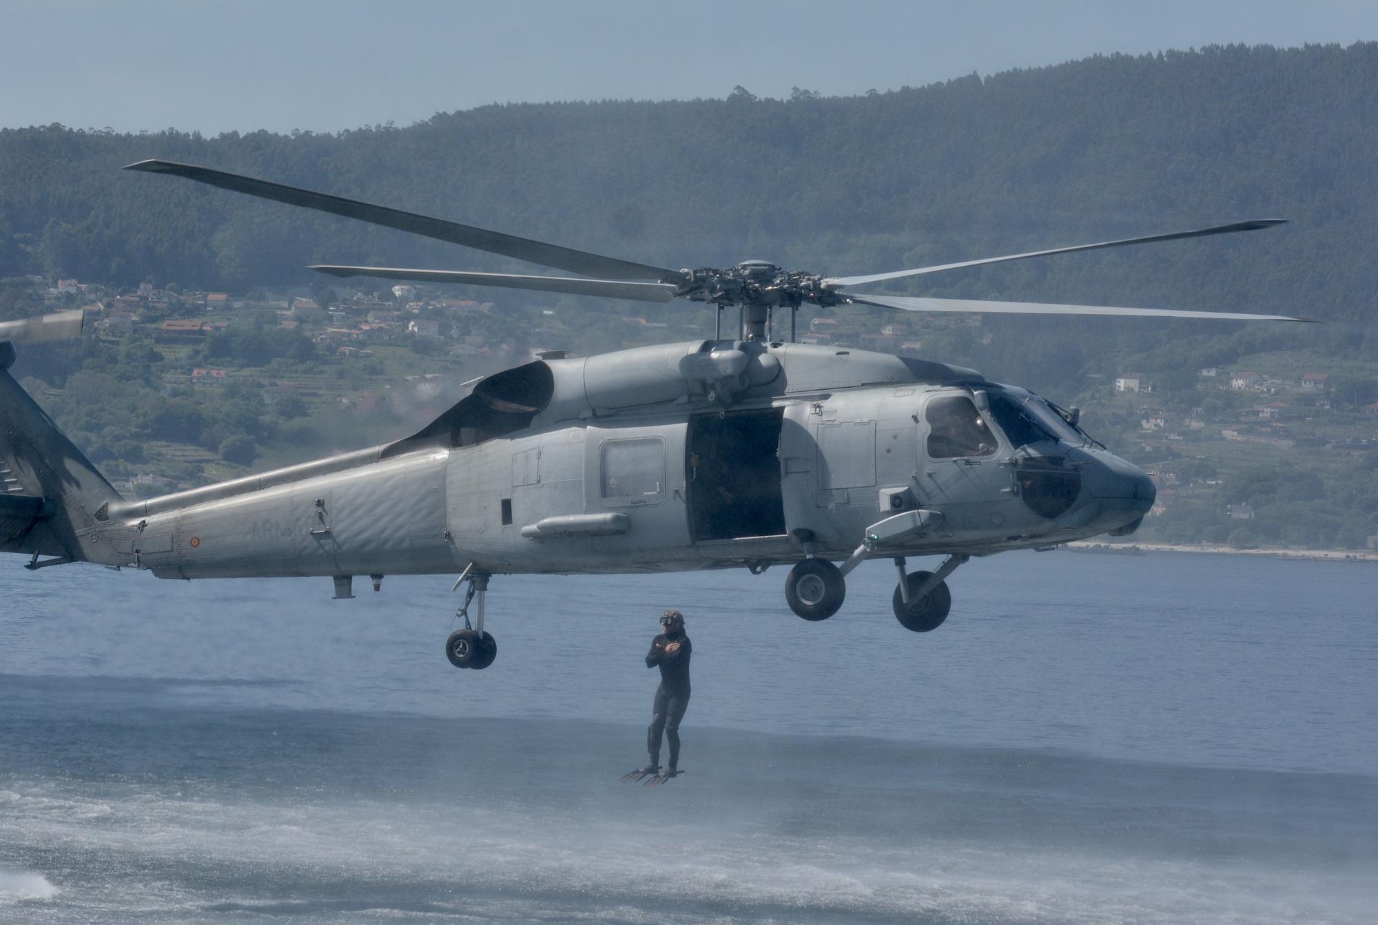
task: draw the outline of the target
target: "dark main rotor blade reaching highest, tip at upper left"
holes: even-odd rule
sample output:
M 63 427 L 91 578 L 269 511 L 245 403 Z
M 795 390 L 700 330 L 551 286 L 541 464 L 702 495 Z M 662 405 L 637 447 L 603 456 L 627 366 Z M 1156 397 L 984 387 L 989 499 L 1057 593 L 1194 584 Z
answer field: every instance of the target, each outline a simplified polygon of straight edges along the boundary
M 416 212 L 402 212 L 401 209 L 391 209 L 384 205 L 372 205 L 357 200 L 346 200 L 339 195 L 314 193 L 295 186 L 284 186 L 282 183 L 270 183 L 252 176 L 216 171 L 209 167 L 149 160 L 130 164 L 124 169 L 183 176 L 189 180 L 196 180 L 197 183 L 218 186 L 222 190 L 247 193 L 248 195 L 256 195 L 263 200 L 274 200 L 288 205 L 299 205 L 307 209 L 329 212 L 331 215 L 342 215 L 347 219 L 360 219 L 361 222 L 382 224 L 389 228 L 398 228 L 400 231 L 411 231 L 412 234 L 420 234 L 438 241 L 462 244 L 466 248 L 474 248 L 475 251 L 500 253 L 504 257 L 526 260 L 528 263 L 539 263 L 546 267 L 568 270 L 569 273 L 582 273 L 590 277 L 604 277 L 609 279 L 657 279 L 660 282 L 683 278 L 683 273 L 679 270 L 653 267 L 648 263 L 635 263 L 633 260 L 608 257 L 601 253 L 576 251 L 573 248 L 564 248 L 558 244 L 546 244 L 533 238 L 521 238 L 515 234 L 503 234 L 502 231 L 480 228 L 473 224 L 460 224 L 459 222 L 433 219 L 426 215 L 418 215 Z

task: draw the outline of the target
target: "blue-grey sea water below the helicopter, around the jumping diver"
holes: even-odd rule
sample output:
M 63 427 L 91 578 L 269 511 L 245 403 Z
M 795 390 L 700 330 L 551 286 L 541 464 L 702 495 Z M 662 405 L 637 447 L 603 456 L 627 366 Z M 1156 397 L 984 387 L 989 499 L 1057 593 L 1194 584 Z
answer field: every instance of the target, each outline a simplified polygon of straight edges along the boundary
M 157 581 L 0 559 L 0 922 L 1371 922 L 1378 567 Z M 911 560 L 911 567 L 923 563 Z M 932 567 L 932 566 L 929 566 Z M 666 607 L 686 774 L 642 763 Z

